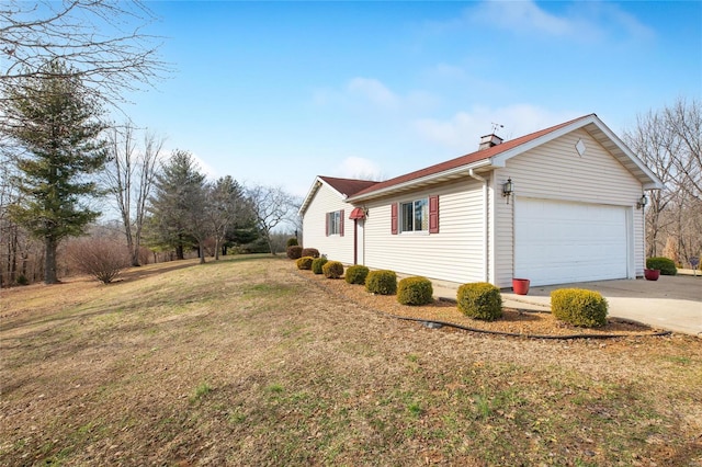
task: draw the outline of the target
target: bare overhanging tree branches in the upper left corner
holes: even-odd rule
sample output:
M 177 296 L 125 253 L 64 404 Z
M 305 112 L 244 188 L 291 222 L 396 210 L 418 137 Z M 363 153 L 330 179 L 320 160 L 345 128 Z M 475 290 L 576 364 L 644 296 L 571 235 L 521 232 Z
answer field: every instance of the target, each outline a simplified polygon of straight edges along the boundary
M 158 56 L 160 38 L 145 32 L 155 20 L 138 0 L 4 1 L 0 84 L 53 78 L 42 64 L 58 59 L 76 70 L 93 96 L 124 102 L 124 91 L 150 84 L 169 71 Z

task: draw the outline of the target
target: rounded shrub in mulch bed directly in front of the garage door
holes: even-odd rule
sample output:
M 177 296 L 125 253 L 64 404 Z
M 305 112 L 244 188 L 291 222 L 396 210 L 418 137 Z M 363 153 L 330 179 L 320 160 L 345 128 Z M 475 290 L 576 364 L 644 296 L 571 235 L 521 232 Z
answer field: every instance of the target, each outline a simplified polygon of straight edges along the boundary
M 599 292 L 559 288 L 551 293 L 551 312 L 570 324 L 599 328 L 607 324 L 607 299 Z

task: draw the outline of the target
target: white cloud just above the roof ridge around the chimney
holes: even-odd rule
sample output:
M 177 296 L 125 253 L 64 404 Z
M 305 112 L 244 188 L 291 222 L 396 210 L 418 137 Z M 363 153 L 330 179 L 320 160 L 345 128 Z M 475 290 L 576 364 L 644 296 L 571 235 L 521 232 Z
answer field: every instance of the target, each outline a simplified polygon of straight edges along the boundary
M 475 151 L 480 136 L 491 133 L 492 124 L 503 125 L 497 134 L 505 139 L 512 139 L 580 115 L 570 111 L 553 112 L 530 104 L 501 109 L 476 106 L 471 111 L 457 112 L 449 119 L 420 118 L 415 121 L 414 126 L 427 140 L 458 156 Z

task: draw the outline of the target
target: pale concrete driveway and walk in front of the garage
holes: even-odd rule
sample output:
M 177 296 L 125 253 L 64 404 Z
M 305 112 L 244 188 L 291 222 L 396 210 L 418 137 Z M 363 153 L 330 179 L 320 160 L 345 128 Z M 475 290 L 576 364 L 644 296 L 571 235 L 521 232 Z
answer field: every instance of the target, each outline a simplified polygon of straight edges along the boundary
M 702 338 L 702 276 L 666 276 L 658 281 L 598 281 L 531 287 L 528 295 L 503 289 L 502 300 L 513 308 L 551 310 L 556 288 L 597 291 L 609 303 L 609 316 Z

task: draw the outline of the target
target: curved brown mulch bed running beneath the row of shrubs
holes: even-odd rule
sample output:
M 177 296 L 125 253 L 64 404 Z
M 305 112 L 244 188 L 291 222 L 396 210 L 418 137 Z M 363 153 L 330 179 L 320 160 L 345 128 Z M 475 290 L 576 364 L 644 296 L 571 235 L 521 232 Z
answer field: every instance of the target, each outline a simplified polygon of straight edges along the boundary
M 293 267 L 294 264 L 293 264 Z M 502 318 L 496 321 L 482 321 L 463 315 L 454 301 L 434 299 L 424 306 L 407 306 L 397 303 L 395 295 L 374 295 L 361 285 L 347 284 L 343 278 L 329 280 L 312 271 L 294 269 L 295 274 L 308 280 L 324 291 L 352 300 L 365 308 L 400 319 L 408 319 L 424 323 L 441 323 L 443 326 L 473 332 L 484 332 L 499 335 L 511 335 L 535 339 L 608 339 L 623 337 L 667 335 L 669 331 L 653 329 L 648 326 L 618 318 L 609 318 L 602 328 L 578 328 L 557 320 L 550 312 L 503 308 Z

